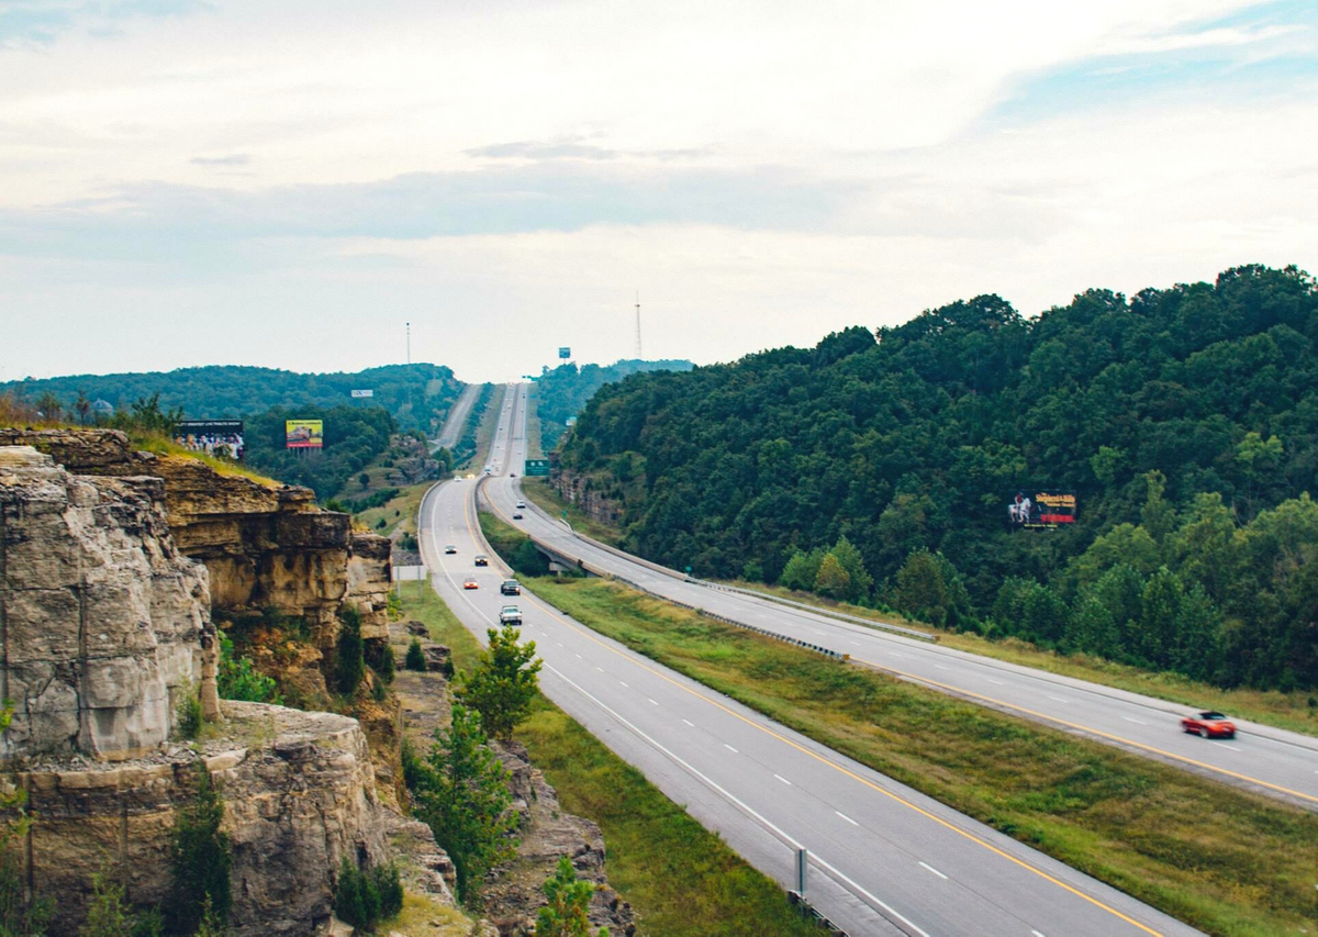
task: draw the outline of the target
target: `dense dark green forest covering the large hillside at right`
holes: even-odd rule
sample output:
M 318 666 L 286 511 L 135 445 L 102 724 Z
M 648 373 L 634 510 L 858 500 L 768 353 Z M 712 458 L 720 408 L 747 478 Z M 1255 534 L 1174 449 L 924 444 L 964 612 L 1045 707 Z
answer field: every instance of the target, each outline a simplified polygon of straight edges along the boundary
M 1318 289 L 995 295 L 598 390 L 561 464 L 629 546 L 1222 685 L 1318 685 Z M 1077 523 L 1008 525 L 1020 490 Z

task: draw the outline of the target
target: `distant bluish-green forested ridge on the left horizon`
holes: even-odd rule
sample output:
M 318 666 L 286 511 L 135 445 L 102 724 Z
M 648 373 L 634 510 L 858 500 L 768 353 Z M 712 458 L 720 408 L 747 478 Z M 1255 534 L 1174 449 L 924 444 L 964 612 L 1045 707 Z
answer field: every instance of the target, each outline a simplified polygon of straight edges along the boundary
M 439 431 L 444 415 L 463 390 L 453 372 L 443 365 L 411 364 L 368 368 L 356 373 L 297 374 L 273 368 L 212 365 L 171 372 L 128 374 L 78 374 L 0 385 L 29 401 L 54 395 L 65 412 L 76 414 L 79 395 L 104 399 L 117 410 L 159 394 L 165 410 L 182 410 L 187 419 L 229 419 L 261 412 L 273 406 L 295 410 L 314 419 L 310 407 L 349 403 L 352 390 L 373 390 L 369 403 L 384 407 L 403 430 Z M 356 403 L 366 403 L 357 401 Z

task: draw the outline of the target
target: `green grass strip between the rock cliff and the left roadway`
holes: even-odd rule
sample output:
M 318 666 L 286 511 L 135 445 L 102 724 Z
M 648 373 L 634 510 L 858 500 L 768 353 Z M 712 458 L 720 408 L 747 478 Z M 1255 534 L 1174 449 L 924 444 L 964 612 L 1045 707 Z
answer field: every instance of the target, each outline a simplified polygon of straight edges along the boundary
M 452 650 L 459 671 L 469 669 L 480 654 L 472 634 L 430 589 L 419 598 L 405 593 L 405 613 Z M 563 808 L 600 824 L 609 882 L 635 908 L 641 933 L 820 933 L 791 909 L 776 884 L 544 697 L 536 698 L 517 738 L 558 788 Z

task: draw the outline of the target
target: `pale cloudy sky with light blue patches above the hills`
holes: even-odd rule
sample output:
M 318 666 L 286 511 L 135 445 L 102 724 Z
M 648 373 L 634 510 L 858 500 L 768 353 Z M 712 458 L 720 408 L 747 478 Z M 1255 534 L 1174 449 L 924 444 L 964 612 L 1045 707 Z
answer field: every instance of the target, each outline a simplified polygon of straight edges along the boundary
M 0 0 L 0 381 L 1318 271 L 1313 0 Z

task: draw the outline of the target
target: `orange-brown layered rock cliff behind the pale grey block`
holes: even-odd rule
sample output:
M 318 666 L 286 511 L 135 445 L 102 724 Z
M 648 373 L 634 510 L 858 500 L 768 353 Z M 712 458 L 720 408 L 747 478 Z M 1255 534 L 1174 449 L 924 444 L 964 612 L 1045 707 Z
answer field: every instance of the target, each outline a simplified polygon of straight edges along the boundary
M 216 611 L 273 608 L 304 619 L 316 643 L 332 647 L 337 614 L 352 605 L 362 614 L 362 637 L 387 637 L 389 540 L 320 510 L 310 489 L 137 452 L 117 430 L 0 428 L 4 445 L 36 447 L 79 474 L 159 478 L 174 543 L 206 564 Z

